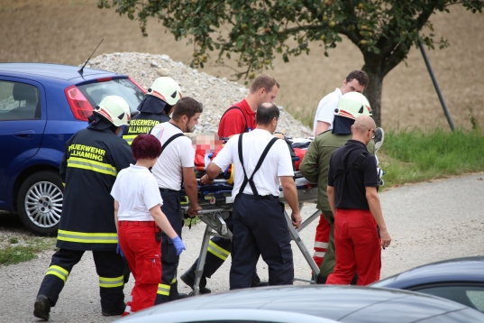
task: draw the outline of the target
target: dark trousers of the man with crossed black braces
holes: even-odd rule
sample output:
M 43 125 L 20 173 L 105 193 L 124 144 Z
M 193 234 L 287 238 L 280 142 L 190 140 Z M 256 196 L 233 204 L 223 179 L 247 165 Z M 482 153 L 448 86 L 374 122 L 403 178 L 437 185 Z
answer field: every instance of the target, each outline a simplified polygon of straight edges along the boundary
M 233 203 L 233 250 L 230 289 L 251 286 L 259 256 L 269 267 L 269 285 L 294 280 L 291 236 L 279 198 L 256 199 L 242 194 Z

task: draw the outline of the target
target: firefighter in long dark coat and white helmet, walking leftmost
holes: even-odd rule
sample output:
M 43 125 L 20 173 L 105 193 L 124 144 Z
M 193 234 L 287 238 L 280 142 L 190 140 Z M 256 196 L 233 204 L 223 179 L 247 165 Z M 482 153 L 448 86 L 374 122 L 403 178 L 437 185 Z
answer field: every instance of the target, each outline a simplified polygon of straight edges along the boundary
M 49 319 L 69 272 L 85 251 L 93 252 L 104 316 L 123 314 L 123 258 L 116 254 L 114 199 L 110 192 L 119 171 L 129 167 L 132 152 L 117 135 L 129 125 L 130 108 L 122 97 L 105 97 L 89 116 L 87 129 L 66 143 L 60 164 L 65 183 L 57 247 L 41 283 L 33 315 Z

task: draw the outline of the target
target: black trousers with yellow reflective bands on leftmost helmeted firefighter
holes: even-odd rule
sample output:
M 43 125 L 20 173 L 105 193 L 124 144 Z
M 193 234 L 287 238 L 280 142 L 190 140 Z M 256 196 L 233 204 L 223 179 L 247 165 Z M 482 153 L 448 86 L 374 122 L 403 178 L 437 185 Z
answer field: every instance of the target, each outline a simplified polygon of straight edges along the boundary
M 68 280 L 72 268 L 81 260 L 84 250 L 60 249 L 52 255 L 50 267 L 41 283 L 38 295 L 45 295 L 55 306 L 60 291 Z M 123 258 L 115 251 L 93 251 L 96 272 L 99 275 L 101 308 L 124 309 Z

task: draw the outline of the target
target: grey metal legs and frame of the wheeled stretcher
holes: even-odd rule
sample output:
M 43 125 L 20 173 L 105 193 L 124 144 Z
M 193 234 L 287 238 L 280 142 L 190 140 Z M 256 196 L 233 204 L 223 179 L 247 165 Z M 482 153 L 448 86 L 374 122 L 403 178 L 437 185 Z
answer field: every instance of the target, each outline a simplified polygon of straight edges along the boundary
M 226 182 L 226 180 L 215 180 L 215 182 Z M 279 194 L 279 200 L 284 204 L 288 204 L 288 202 L 284 198 L 282 191 Z M 299 202 L 299 210 L 304 207 L 304 203 L 315 203 L 317 200 L 317 186 L 313 185 L 305 189 L 297 189 L 297 200 Z M 232 240 L 233 237 L 232 232 L 227 227 L 224 221 L 224 219 L 229 216 L 229 212 L 232 211 L 233 202 L 231 196 L 225 196 L 225 201 L 222 205 L 216 205 L 215 202 L 215 198 L 211 198 L 210 195 L 208 195 L 208 198 L 205 196 L 203 202 L 199 201 L 199 205 L 203 209 L 197 212 L 197 216 L 202 222 L 205 223 L 206 227 L 204 237 L 202 239 L 202 245 L 200 247 L 198 263 L 196 265 L 193 295 L 198 295 L 200 293 L 199 286 L 202 279 L 202 274 L 204 272 L 206 253 L 208 252 L 208 244 L 210 242 L 210 238 L 212 236 L 220 236 L 225 239 Z M 286 217 L 286 221 L 288 222 L 288 231 L 291 235 L 292 240 L 294 240 L 294 242 L 296 243 L 299 251 L 304 256 L 306 263 L 309 265 L 313 272 L 311 280 L 295 277 L 294 281 L 305 281 L 311 284 L 315 284 L 317 274 L 319 273 L 319 267 L 316 265 L 313 256 L 310 254 L 304 241 L 301 239 L 299 232 L 301 232 L 306 226 L 311 224 L 315 220 L 315 218 L 320 217 L 321 211 L 315 211 L 315 213 L 313 213 L 310 217 L 306 218 L 306 220 L 303 221 L 301 226 L 299 226 L 299 228 L 297 229 L 292 225 L 291 217 L 286 209 L 284 210 L 284 215 Z

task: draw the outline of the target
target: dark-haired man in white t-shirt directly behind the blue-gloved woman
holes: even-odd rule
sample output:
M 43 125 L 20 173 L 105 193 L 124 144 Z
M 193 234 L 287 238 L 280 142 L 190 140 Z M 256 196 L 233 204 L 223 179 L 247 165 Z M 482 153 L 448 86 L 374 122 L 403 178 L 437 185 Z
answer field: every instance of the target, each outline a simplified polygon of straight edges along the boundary
M 183 212 L 181 209 L 181 182 L 190 200 L 188 215 L 195 217 L 200 210 L 197 202 L 198 188 L 195 177 L 195 149 L 192 141 L 183 133 L 190 133 L 198 124 L 202 105 L 192 97 L 180 98 L 173 109 L 169 122 L 155 125 L 151 134 L 161 143 L 158 161 L 151 169 L 160 188 L 163 205 L 161 210 L 169 219 L 170 225 L 181 237 Z M 155 304 L 178 300 L 177 268 L 179 256 L 168 235 L 162 234 L 161 241 L 161 282 L 158 286 Z

